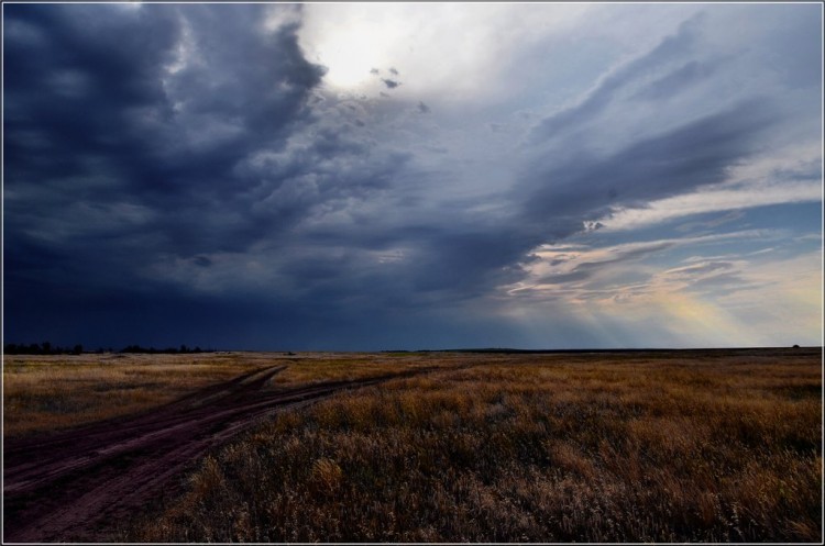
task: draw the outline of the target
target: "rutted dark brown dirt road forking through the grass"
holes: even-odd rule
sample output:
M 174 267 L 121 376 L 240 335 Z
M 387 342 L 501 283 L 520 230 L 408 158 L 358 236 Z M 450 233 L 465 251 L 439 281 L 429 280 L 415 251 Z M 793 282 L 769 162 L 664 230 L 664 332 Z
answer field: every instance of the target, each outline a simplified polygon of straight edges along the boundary
M 111 542 L 198 456 L 257 417 L 425 371 L 262 390 L 283 369 L 245 374 L 151 413 L 7 442 L 3 542 Z

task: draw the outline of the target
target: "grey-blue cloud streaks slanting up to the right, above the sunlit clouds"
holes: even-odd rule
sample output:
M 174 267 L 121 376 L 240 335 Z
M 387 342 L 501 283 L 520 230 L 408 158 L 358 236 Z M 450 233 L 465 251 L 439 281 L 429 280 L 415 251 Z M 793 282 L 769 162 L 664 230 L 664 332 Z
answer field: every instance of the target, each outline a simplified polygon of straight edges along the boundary
M 598 227 L 595 221 L 614 209 L 644 208 L 723 182 L 763 149 L 771 131 L 781 131 L 787 120 L 778 98 L 759 96 L 758 89 L 719 97 L 710 113 L 682 107 L 673 118 L 674 98 L 705 89 L 729 60 L 703 49 L 705 21 L 702 14 L 684 21 L 651 51 L 608 73 L 578 104 L 532 129 L 536 158 L 518 185 L 532 230 L 559 239 Z M 626 137 L 619 133 L 612 143 L 617 147 L 592 144 L 627 112 L 641 123 Z

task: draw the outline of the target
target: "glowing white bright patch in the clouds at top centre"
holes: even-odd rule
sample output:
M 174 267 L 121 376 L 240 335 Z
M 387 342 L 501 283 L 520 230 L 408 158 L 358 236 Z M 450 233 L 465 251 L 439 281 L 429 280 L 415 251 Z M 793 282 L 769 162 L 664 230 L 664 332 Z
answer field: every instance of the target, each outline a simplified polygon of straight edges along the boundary
M 398 90 L 408 94 L 481 98 L 505 90 L 497 76 L 517 62 L 517 52 L 570 29 L 588 9 L 550 4 L 528 13 L 504 4 L 307 4 L 300 44 L 309 59 L 328 68 L 324 80 L 333 88 L 363 89 L 384 78 L 402 81 Z

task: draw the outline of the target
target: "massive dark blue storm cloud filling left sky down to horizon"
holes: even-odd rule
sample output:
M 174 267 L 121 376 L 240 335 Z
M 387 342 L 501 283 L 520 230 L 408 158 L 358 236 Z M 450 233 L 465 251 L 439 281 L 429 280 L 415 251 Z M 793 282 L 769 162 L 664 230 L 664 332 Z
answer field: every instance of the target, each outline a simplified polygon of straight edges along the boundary
M 6 37 L 7 336 L 52 327 L 97 343 L 79 332 L 102 339 L 168 305 L 157 332 L 188 317 L 206 335 L 216 327 L 206 316 L 223 315 L 261 344 L 266 327 L 287 324 L 298 339 L 301 327 L 334 325 L 353 302 L 409 301 L 386 278 L 393 266 L 364 253 L 415 231 L 383 230 L 384 211 L 353 203 L 405 183 L 410 154 L 376 149 L 332 116 L 334 104 L 307 108 L 323 69 L 304 58 L 295 26 L 263 32 L 261 5 L 75 9 L 7 10 L 18 26 Z M 102 42 L 86 44 L 84 22 Z M 73 309 L 77 327 L 65 319 Z M 232 332 L 222 343 L 243 346 Z

